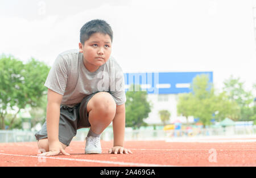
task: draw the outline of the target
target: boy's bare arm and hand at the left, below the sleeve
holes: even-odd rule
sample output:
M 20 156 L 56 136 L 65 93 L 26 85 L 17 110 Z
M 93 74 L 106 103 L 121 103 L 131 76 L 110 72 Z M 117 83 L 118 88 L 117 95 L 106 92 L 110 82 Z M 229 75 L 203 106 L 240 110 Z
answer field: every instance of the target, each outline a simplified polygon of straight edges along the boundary
M 60 103 L 62 98 L 63 95 L 48 89 L 46 124 L 49 151 L 40 154 L 40 156 L 53 156 L 60 154 L 60 152 L 64 155 L 68 155 L 59 141 Z

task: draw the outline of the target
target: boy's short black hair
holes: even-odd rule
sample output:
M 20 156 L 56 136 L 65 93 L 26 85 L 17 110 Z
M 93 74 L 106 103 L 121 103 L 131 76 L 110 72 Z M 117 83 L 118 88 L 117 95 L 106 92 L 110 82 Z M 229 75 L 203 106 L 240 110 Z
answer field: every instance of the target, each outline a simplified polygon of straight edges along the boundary
M 113 31 L 105 20 L 91 20 L 82 26 L 80 29 L 80 43 L 84 45 L 84 42 L 90 38 L 93 33 L 108 34 L 110 36 L 111 42 L 113 41 Z

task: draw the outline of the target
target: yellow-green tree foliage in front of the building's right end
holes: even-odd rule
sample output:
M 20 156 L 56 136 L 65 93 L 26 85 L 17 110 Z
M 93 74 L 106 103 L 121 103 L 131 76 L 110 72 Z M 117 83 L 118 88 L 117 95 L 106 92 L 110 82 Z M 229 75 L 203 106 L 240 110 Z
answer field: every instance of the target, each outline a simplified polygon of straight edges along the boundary
M 191 93 L 179 95 L 179 114 L 199 118 L 204 126 L 210 125 L 212 118 L 220 121 L 225 117 L 238 116 L 238 105 L 230 100 L 225 92 L 216 94 L 208 75 L 197 75 L 192 81 L 191 90 Z

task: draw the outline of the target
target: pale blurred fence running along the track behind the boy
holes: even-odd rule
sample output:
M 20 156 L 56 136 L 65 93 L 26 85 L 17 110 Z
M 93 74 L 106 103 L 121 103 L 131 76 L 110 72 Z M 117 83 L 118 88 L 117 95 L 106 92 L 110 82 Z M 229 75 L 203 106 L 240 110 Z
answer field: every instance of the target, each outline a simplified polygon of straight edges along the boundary
M 77 130 L 75 141 L 84 141 L 89 129 Z M 125 141 L 147 141 L 166 140 L 173 137 L 201 137 L 201 136 L 236 136 L 236 135 L 256 135 L 256 125 L 228 127 L 228 128 L 193 128 L 191 130 L 130 130 L 125 131 Z M 112 128 L 106 129 L 101 134 L 101 139 L 105 141 L 113 140 Z M 33 142 L 35 132 L 22 130 L 0 130 L 0 142 Z

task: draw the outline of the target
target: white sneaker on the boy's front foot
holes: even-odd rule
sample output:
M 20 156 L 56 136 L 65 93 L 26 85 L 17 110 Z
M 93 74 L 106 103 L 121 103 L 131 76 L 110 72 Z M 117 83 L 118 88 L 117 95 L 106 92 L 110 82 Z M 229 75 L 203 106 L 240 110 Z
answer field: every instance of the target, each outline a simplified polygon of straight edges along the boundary
M 100 137 L 86 137 L 85 154 L 101 154 Z

